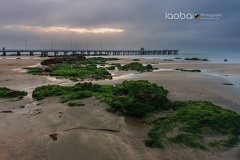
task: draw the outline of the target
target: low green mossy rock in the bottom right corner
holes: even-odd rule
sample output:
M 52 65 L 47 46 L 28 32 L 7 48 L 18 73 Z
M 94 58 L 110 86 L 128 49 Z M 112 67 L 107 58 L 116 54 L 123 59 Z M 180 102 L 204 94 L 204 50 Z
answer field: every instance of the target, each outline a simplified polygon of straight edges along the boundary
M 239 143 L 239 114 L 208 101 L 177 101 L 173 103 L 173 109 L 172 113 L 154 122 L 145 142 L 148 146 L 156 147 L 154 144 L 168 141 L 205 150 L 211 147 L 233 147 Z M 173 129 L 182 133 L 168 136 Z M 156 132 L 161 135 L 160 138 L 152 134 Z M 205 135 L 216 139 L 206 145 Z M 228 139 L 221 139 L 222 136 Z M 149 145 L 149 141 L 154 142 L 153 145 Z

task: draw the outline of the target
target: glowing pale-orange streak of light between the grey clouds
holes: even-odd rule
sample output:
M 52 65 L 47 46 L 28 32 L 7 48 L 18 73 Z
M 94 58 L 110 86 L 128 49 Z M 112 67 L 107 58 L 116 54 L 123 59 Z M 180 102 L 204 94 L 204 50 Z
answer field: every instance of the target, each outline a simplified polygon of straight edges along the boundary
M 76 32 L 76 33 L 121 33 L 123 29 L 114 28 L 71 28 L 71 27 L 42 27 L 42 26 L 24 26 L 24 25 L 7 25 L 6 29 L 17 29 L 37 32 Z

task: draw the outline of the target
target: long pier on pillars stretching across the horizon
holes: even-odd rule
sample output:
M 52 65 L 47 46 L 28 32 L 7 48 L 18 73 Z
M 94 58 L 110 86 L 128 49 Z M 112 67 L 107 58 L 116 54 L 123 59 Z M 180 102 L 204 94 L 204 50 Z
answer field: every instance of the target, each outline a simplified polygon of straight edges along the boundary
M 0 50 L 2 56 L 11 53 L 21 56 L 23 53 L 26 55 L 34 56 L 41 55 L 59 56 L 59 55 L 101 55 L 101 56 L 114 56 L 114 55 L 178 55 L 178 50 L 67 50 L 67 49 L 5 49 Z

